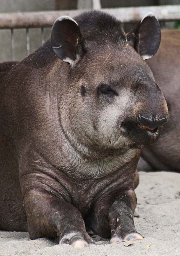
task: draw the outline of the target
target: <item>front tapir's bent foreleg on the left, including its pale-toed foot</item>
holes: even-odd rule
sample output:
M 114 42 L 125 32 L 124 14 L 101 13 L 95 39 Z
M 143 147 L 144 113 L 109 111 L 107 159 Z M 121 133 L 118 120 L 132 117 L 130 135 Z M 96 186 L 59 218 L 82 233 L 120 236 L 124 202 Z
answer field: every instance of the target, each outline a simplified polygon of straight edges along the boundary
M 81 213 L 72 204 L 45 191 L 25 194 L 25 208 L 31 239 L 59 237 L 59 243 L 84 247 L 93 241 L 86 233 Z

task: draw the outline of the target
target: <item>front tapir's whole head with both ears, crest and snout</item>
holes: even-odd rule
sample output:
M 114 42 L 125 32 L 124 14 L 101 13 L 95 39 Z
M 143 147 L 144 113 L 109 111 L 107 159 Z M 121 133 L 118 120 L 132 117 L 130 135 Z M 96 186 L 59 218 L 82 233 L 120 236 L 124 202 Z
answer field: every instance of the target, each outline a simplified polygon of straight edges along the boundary
M 104 149 L 153 143 L 168 120 L 165 98 L 145 62 L 160 45 L 157 19 L 147 14 L 127 35 L 121 22 L 102 12 L 75 20 L 60 17 L 51 36 L 66 70 L 59 92 L 64 129 L 70 126 L 79 143 Z

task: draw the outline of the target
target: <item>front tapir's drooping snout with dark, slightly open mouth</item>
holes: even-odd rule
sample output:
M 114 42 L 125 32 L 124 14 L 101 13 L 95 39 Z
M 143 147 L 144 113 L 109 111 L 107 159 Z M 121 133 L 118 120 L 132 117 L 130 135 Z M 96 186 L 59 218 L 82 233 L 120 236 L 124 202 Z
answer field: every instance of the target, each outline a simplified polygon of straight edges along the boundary
M 168 122 L 166 100 L 158 86 L 144 86 L 136 99 L 133 115 L 121 122 L 121 126 L 137 145 L 152 144 L 160 136 L 161 127 Z

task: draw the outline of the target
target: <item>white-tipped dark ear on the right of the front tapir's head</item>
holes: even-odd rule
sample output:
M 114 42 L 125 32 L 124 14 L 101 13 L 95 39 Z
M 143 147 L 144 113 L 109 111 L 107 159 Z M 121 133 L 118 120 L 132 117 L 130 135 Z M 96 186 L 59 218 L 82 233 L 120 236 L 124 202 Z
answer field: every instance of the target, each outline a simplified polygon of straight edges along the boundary
M 155 15 L 146 14 L 128 33 L 127 40 L 144 60 L 153 57 L 161 41 L 161 28 Z

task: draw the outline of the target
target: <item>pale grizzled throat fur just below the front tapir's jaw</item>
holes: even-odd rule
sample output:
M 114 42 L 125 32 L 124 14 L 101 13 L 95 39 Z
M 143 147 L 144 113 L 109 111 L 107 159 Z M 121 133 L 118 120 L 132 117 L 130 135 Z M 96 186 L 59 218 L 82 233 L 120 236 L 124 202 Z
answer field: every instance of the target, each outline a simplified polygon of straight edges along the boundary
M 62 136 L 63 166 L 66 172 L 77 179 L 96 179 L 123 169 L 129 162 L 134 162 L 134 169 L 138 163 L 140 149 L 119 149 L 101 151 L 89 149 L 77 142 L 76 148 Z

